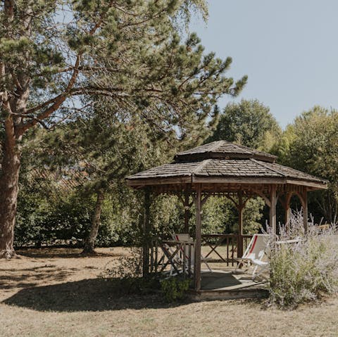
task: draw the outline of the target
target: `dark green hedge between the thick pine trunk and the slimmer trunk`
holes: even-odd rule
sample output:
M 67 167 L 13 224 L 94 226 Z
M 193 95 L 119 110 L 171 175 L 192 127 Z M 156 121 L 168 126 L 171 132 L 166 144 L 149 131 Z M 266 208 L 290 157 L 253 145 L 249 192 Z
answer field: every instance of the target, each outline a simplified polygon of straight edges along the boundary
M 90 227 L 92 204 L 76 193 L 43 196 L 24 189 L 18 199 L 15 246 L 82 241 Z

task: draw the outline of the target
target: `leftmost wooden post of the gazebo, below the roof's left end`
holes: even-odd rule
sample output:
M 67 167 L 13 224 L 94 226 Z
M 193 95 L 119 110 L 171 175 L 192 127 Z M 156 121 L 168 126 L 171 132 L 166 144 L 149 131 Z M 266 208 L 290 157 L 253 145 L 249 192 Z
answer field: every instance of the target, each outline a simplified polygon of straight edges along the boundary
M 142 257 L 143 257 L 143 277 L 149 274 L 149 248 L 150 248 L 150 189 L 144 190 L 144 217 L 143 217 L 143 246 L 142 246 Z

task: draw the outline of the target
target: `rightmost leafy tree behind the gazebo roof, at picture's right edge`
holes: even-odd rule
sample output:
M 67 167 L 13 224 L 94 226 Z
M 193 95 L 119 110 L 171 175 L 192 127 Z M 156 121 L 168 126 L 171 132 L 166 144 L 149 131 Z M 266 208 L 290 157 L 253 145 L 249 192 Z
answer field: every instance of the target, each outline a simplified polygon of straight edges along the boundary
M 338 215 L 338 111 L 315 106 L 288 125 L 275 146 L 284 165 L 330 181 L 327 191 L 311 193 L 313 208 L 327 222 Z

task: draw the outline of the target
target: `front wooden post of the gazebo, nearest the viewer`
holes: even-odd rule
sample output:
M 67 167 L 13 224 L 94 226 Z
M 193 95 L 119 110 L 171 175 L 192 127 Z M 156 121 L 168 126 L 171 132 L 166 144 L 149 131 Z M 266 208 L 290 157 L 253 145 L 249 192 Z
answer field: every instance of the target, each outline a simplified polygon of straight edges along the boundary
M 196 186 L 196 244 L 194 256 L 194 286 L 195 291 L 201 289 L 201 215 L 202 215 L 202 186 Z

